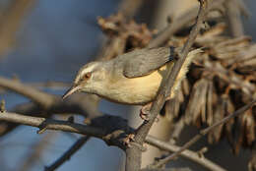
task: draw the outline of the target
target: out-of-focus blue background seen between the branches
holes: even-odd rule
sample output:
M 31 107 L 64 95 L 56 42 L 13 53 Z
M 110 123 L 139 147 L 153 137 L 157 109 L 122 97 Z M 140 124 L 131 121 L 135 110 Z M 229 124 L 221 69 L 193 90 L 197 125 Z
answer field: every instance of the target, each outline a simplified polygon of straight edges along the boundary
M 0 27 L 1 24 L 4 24 L 3 21 L 7 20 L 1 18 L 1 11 L 5 11 L 14 1 L 0 1 L 0 21 L 2 21 Z M 15 40 L 7 41 L 9 43 L 6 47 L 8 50 L 4 50 L 4 53 L 0 54 L 0 75 L 7 78 L 18 78 L 28 84 L 48 81 L 71 83 L 78 69 L 96 57 L 102 44 L 103 34 L 96 24 L 96 18 L 98 16 L 107 17 L 115 13 L 120 2 L 119 0 L 31 1 L 26 7 L 26 12 L 19 12 L 18 9 L 17 16 L 13 16 L 21 21 L 19 25 L 13 26 L 17 29 L 14 31 L 2 30 L 5 34 L 8 34 L 9 31 L 15 32 L 13 35 Z M 158 0 L 158 3 L 149 0 L 147 7 L 142 7 L 136 20 L 147 23 L 151 27 L 152 23 L 149 22 L 149 19 L 159 15 L 154 13 L 158 11 L 157 8 L 160 8 L 160 5 L 156 6 L 156 4 L 163 2 L 164 0 Z M 254 8 L 256 2 L 254 0 L 245 2 L 251 11 L 251 16 L 243 20 L 245 32 L 255 40 L 256 11 Z M 161 22 L 163 24 L 158 24 L 160 28 L 164 27 L 165 21 Z M 43 90 L 54 94 L 63 94 L 66 87 L 43 88 Z M 6 101 L 7 109 L 29 101 L 13 92 L 0 93 L 0 99 L 2 98 Z M 100 110 L 116 115 L 122 113 L 121 116 L 125 118 L 132 118 L 129 113 L 137 113 L 134 108 L 112 104 L 104 100 L 100 102 Z M 132 124 L 137 125 L 138 123 Z M 196 132 L 196 129 L 191 129 L 194 130 L 194 133 Z M 38 142 L 43 143 L 41 148 L 36 148 L 40 151 L 40 155 L 35 157 L 36 160 L 32 162 L 29 170 L 43 170 L 44 166 L 55 161 L 79 137 L 78 135 L 50 131 L 43 135 L 37 135 L 36 131 L 35 128 L 22 126 L 19 130 L 6 135 L 4 139 L 0 139 L 1 171 L 18 171 L 27 168 L 25 165 Z M 181 142 L 189 140 L 190 133 L 185 131 Z M 202 140 L 197 145 L 200 146 L 204 143 L 206 140 Z M 246 170 L 250 157 L 248 151 L 242 150 L 237 156 L 234 156 L 226 143 L 223 141 L 216 145 L 210 145 L 209 151 L 211 152 L 209 153 L 211 155 L 206 154 L 206 156 L 222 166 L 228 165 L 229 168 L 224 167 L 228 170 Z M 198 149 L 197 145 L 193 147 Z M 117 147 L 107 146 L 104 142 L 91 139 L 58 170 L 119 170 L 123 165 L 123 156 L 124 153 Z M 227 164 L 228 162 L 235 163 L 235 166 L 232 167 L 232 164 Z M 202 167 L 182 159 L 175 160 L 173 165 L 192 165 L 198 171 L 204 170 Z

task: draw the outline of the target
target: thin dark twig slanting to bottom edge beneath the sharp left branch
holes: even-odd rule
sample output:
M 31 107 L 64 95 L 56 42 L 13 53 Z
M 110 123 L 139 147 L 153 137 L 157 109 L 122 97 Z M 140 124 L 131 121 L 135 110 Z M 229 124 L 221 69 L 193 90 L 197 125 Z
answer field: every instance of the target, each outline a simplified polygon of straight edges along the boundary
M 54 171 L 59 166 L 61 166 L 64 162 L 70 159 L 70 157 L 76 153 L 86 142 L 90 140 L 89 136 L 85 136 L 80 138 L 77 142 L 75 142 L 59 159 L 57 159 L 50 166 L 45 167 L 44 171 Z

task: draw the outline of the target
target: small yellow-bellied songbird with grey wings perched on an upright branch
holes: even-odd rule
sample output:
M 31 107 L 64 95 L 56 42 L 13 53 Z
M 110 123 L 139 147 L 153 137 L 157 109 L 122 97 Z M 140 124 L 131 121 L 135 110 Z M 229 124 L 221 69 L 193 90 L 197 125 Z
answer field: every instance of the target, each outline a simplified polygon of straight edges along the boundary
M 169 98 L 174 97 L 188 66 L 200 52 L 201 49 L 195 49 L 188 53 Z M 175 56 L 177 49 L 173 47 L 144 48 L 108 61 L 88 63 L 79 70 L 73 86 L 63 98 L 76 91 L 83 91 L 117 103 L 148 104 L 156 98 L 162 79 L 167 70 L 173 67 Z

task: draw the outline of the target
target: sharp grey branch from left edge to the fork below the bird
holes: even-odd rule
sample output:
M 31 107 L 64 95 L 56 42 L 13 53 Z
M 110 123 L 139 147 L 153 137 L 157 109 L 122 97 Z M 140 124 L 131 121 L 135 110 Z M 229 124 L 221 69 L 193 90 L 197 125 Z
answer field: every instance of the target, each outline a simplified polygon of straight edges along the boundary
M 127 148 L 127 145 L 124 143 L 124 139 L 127 135 L 134 133 L 134 130 L 128 126 L 127 120 L 110 115 L 96 117 L 91 120 L 90 125 L 83 125 L 70 121 L 59 121 L 11 112 L 0 112 L 0 121 L 37 127 L 39 128 L 38 134 L 46 130 L 57 130 L 87 135 L 101 139 L 108 145 L 115 145 L 121 149 Z

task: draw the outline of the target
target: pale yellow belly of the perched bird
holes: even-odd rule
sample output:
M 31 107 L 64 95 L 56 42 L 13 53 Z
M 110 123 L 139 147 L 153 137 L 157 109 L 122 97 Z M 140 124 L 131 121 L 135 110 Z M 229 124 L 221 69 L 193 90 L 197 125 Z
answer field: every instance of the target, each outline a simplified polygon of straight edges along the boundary
M 124 104 L 146 104 L 155 99 L 161 80 L 165 75 L 166 65 L 148 76 L 133 79 L 123 78 L 110 84 L 103 97 Z

